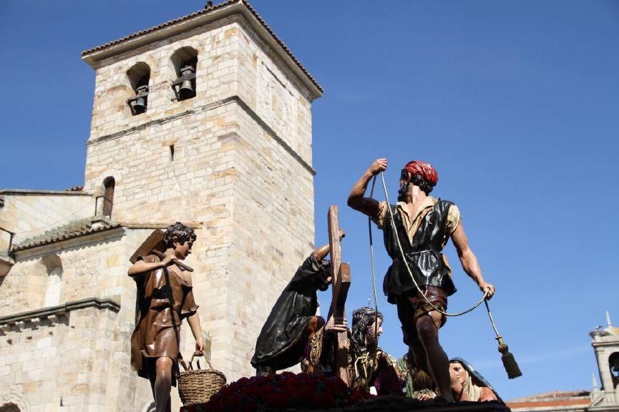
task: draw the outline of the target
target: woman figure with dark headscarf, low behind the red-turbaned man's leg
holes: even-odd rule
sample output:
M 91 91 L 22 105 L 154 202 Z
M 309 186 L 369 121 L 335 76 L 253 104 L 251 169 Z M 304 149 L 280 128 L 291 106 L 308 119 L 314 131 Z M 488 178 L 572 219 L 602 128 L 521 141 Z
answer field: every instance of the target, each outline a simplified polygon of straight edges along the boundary
M 451 377 L 451 393 L 453 400 L 468 400 L 486 402 L 498 400 L 503 402 L 499 394 L 473 365 L 462 358 L 449 361 L 449 376 Z

